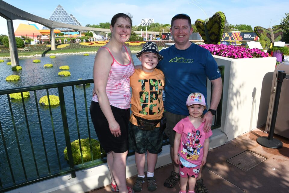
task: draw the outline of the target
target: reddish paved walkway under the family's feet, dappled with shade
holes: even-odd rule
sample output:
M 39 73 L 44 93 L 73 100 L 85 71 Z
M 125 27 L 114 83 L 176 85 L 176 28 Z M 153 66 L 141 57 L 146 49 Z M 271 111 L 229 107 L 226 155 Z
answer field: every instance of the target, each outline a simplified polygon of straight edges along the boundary
M 280 149 L 269 149 L 256 142 L 259 136 L 268 136 L 260 129 L 245 133 L 237 139 L 209 150 L 207 164 L 202 172 L 204 183 L 210 193 L 287 193 L 289 190 L 289 139 L 274 135 L 283 142 Z M 247 172 L 228 163 L 228 160 L 246 150 L 255 152 L 267 159 Z M 255 158 L 253 160 L 256 160 Z M 248 163 L 252 160 L 248 160 Z M 172 165 L 155 170 L 157 190 L 161 193 L 178 193 L 179 184 L 174 188 L 165 188 L 163 182 L 170 175 Z M 127 179 L 132 187 L 135 177 Z M 90 191 L 90 193 L 111 192 L 110 186 Z M 148 193 L 147 184 L 141 193 Z

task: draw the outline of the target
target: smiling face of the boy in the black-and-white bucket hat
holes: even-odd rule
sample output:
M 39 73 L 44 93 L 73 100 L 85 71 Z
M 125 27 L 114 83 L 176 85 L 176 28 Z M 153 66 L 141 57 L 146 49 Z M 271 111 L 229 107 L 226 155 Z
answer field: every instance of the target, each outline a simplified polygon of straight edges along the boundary
M 139 57 L 139 61 L 141 61 L 142 70 L 144 72 L 152 72 L 157 67 L 159 63 L 159 56 L 155 53 L 144 52 Z

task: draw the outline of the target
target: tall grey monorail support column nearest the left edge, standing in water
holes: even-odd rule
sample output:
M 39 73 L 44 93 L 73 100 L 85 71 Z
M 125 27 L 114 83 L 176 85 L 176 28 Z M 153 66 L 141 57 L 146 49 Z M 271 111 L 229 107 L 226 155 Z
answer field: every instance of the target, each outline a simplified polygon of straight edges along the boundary
M 10 50 L 10 57 L 11 57 L 11 66 L 19 66 L 19 58 L 13 28 L 12 20 L 7 20 L 7 28 L 8 28 L 8 40 L 9 40 L 9 50 Z

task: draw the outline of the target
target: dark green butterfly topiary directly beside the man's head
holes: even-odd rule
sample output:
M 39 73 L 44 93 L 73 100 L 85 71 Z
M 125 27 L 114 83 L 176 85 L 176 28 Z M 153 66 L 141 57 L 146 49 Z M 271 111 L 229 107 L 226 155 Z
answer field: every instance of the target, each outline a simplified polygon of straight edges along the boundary
M 206 44 L 218 44 L 221 40 L 225 27 L 225 14 L 216 12 L 208 21 L 197 19 L 195 25 Z

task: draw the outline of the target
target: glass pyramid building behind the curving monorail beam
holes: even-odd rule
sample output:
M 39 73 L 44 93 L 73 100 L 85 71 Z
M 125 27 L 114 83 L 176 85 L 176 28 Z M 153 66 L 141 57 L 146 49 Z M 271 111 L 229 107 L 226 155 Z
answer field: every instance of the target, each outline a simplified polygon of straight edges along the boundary
M 49 17 L 49 20 L 57 21 L 57 22 L 60 22 L 60 23 L 65 23 L 65 24 L 82 26 L 79 23 L 79 21 L 77 21 L 77 19 L 72 14 L 69 15 L 61 5 L 58 5 L 55 8 L 53 13 Z M 47 28 L 45 26 L 42 28 L 42 30 L 48 30 L 48 29 L 49 28 Z M 57 30 L 61 30 L 61 31 L 71 31 L 71 29 L 67 29 L 67 28 L 63 28 L 63 27 L 56 28 L 56 29 Z

